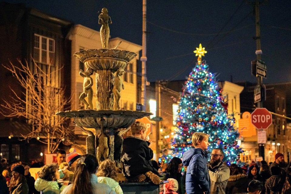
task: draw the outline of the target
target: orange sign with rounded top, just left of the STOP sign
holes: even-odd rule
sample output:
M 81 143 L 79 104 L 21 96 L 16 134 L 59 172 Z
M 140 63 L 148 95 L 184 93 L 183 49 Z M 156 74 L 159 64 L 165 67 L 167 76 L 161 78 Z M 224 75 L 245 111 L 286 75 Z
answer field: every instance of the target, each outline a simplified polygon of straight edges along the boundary
M 244 137 L 256 135 L 256 127 L 252 124 L 251 113 L 244 112 L 242 119 L 239 119 L 239 133 Z

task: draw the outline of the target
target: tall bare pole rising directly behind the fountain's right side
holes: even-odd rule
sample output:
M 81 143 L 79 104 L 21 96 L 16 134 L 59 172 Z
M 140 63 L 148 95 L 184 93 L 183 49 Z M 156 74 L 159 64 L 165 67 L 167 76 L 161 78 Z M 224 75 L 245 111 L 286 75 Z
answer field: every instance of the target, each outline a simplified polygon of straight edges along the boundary
M 142 90 L 141 90 L 141 103 L 142 110 L 146 111 L 146 0 L 142 0 Z

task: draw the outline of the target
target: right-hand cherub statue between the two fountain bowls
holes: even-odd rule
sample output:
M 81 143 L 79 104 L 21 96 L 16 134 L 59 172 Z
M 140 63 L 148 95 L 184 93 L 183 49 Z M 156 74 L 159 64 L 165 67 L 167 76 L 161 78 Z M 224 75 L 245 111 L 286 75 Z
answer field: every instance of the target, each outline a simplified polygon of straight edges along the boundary
M 119 68 L 116 71 L 114 86 L 113 86 L 113 94 L 115 96 L 115 105 L 114 105 L 115 110 L 120 109 L 120 106 L 119 106 L 119 100 L 120 100 L 120 96 L 121 96 L 120 92 L 121 92 L 121 89 L 124 89 L 123 79 L 122 79 L 123 74 L 124 74 L 124 69 L 122 69 L 122 68 Z

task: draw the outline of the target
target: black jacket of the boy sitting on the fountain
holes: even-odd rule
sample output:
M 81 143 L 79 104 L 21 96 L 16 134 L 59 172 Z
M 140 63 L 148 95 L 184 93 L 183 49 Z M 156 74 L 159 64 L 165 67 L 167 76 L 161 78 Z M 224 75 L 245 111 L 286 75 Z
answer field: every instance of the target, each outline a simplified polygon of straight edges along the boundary
M 160 176 L 150 161 L 153 157 L 153 152 L 149 148 L 149 142 L 138 137 L 129 136 L 123 140 L 122 152 L 124 153 L 122 156 L 122 162 L 124 163 L 122 173 L 126 178 L 134 178 L 148 171 Z

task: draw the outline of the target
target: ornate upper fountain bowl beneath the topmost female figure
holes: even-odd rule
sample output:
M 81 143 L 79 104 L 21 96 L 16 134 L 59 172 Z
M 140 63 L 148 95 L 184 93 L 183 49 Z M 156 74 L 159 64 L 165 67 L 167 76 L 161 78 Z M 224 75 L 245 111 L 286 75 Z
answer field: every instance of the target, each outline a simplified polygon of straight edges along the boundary
M 74 56 L 85 64 L 85 67 L 97 70 L 125 69 L 127 63 L 137 54 L 119 49 L 89 49 L 75 52 Z

